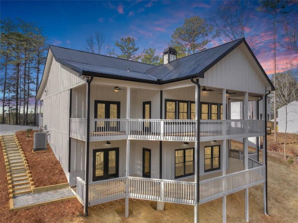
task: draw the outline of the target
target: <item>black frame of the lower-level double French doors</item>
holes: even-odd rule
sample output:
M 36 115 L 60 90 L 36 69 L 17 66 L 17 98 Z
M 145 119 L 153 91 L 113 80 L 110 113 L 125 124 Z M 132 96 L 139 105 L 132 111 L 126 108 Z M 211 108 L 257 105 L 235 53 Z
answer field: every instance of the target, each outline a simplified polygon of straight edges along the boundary
M 115 174 L 108 174 L 108 152 L 109 151 L 116 151 L 116 173 Z M 95 176 L 95 161 L 96 161 L 96 153 L 103 152 L 103 176 Z M 119 147 L 116 148 L 107 148 L 107 149 L 93 149 L 92 155 L 92 181 L 96 180 L 106 180 L 110 178 L 119 177 Z

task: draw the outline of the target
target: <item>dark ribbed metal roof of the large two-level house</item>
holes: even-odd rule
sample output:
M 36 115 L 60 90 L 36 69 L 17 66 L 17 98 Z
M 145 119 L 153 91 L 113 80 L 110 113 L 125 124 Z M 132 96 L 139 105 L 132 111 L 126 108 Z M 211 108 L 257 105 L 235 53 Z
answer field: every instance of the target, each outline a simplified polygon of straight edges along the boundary
M 208 69 L 218 63 L 219 60 L 229 54 L 241 43 L 246 45 L 257 65 L 270 83 L 272 89 L 274 89 L 270 79 L 244 38 L 187 57 L 182 57 L 159 66 L 67 49 L 59 46 L 50 46 L 49 49 L 51 49 L 55 60 L 64 66 L 77 71 L 80 75 L 91 74 L 99 77 L 164 84 L 183 79 L 190 79 L 190 77 L 204 77 L 204 73 Z

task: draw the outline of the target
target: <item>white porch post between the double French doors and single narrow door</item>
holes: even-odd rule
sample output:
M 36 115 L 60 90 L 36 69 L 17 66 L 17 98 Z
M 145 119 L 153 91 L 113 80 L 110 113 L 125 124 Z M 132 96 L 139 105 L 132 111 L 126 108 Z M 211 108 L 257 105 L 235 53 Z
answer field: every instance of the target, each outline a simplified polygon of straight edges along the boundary
M 129 131 L 128 128 L 128 119 L 130 118 L 130 88 L 126 88 L 126 130 Z M 127 132 L 129 135 L 129 132 Z M 126 141 L 126 168 L 125 168 L 125 176 L 129 177 L 129 157 L 130 156 L 130 140 L 127 139 Z M 126 178 L 126 197 L 125 197 L 125 217 L 128 218 L 128 193 L 129 193 L 129 184 L 128 178 Z

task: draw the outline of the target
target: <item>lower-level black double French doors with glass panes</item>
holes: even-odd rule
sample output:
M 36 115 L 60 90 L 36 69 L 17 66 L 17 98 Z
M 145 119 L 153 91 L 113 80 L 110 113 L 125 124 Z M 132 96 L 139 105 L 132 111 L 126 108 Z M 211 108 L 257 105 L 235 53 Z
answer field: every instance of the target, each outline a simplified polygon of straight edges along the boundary
M 119 176 L 119 148 L 93 150 L 92 180 Z

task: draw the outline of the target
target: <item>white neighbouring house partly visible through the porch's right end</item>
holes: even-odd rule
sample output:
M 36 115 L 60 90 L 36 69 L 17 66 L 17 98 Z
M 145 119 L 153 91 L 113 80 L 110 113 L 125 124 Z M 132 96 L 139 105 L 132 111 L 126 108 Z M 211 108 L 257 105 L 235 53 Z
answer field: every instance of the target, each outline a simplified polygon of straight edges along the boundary
M 248 103 L 248 119 L 264 119 L 263 116 L 263 102 L 262 98 L 258 101 L 250 101 Z M 239 99 L 231 99 L 231 119 L 243 119 L 243 102 Z M 266 114 L 266 121 L 271 120 L 271 98 L 267 96 L 267 114 Z M 257 106 L 259 107 L 257 112 Z M 243 138 L 235 138 L 234 140 L 243 142 Z M 258 145 L 257 145 L 258 142 Z M 256 149 L 260 148 L 260 142 L 258 141 L 257 137 L 249 137 L 248 138 L 248 145 L 255 147 Z

